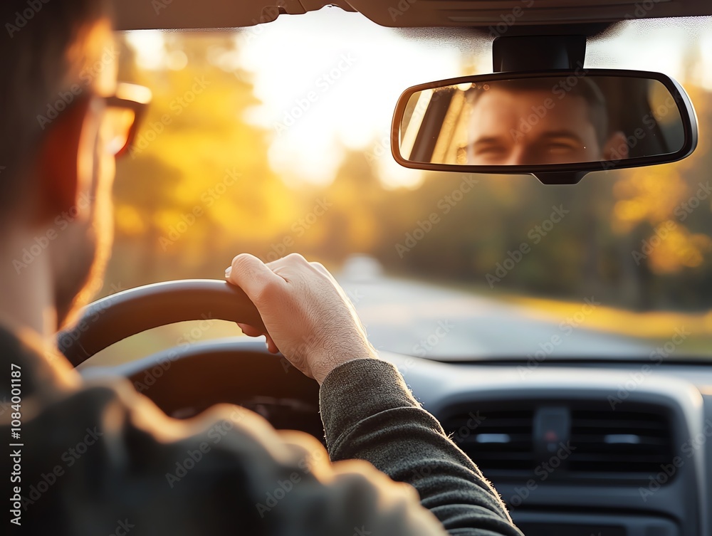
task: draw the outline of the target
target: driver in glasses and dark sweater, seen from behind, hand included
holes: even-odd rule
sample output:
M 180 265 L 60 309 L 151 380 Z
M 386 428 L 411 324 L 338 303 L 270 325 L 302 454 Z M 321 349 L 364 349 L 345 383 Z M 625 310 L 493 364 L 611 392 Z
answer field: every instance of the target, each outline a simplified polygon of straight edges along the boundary
M 301 256 L 264 264 L 238 255 L 226 278 L 267 329 L 243 325 L 246 334 L 266 335 L 272 352 L 320 384 L 328 451 L 238 406 L 177 421 L 127 380 L 75 372 L 55 335 L 102 277 L 115 157 L 147 94 L 117 85 L 113 64 L 83 83 L 112 47 L 105 1 L 36 3 L 24 26 L 6 27 L 0 46 L 9 533 L 520 535 L 478 468 L 379 360 L 334 278 Z M 5 0 L 0 21 L 27 6 Z M 66 225 L 56 228 L 58 218 Z M 40 243 L 18 270 L 21 252 Z M 315 342 L 308 352 L 305 337 Z

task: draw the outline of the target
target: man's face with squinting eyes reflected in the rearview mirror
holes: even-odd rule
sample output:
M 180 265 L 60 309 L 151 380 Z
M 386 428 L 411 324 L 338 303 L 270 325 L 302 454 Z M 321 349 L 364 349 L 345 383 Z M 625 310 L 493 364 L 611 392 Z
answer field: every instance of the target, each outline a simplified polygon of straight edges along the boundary
M 488 90 L 476 90 L 468 164 L 513 166 L 627 158 L 623 133 L 607 132 L 602 98 L 596 100 L 581 90 L 554 92 L 524 84 L 524 80 L 514 87 L 507 82 L 492 83 Z

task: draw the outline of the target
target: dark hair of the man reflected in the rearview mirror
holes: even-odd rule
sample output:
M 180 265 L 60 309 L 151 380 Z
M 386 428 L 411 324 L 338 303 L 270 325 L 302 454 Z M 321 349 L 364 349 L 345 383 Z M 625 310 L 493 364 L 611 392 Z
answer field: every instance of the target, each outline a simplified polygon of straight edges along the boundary
M 491 87 L 510 92 L 545 90 L 552 95 L 564 93 L 565 95 L 584 98 L 588 105 L 589 120 L 596 131 L 599 144 L 603 147 L 609 136 L 609 125 L 608 106 L 601 88 L 594 80 L 591 80 L 590 77 L 585 75 L 577 76 L 575 83 L 567 82 L 562 84 L 561 82 L 562 80 L 556 77 L 512 78 L 510 80 L 501 80 L 500 82 L 493 83 Z M 557 87 L 560 88 L 559 93 L 555 93 Z M 486 90 L 482 88 L 471 88 L 467 93 L 467 100 L 473 105 L 478 98 L 486 93 Z M 558 98 L 553 97 L 553 100 L 556 101 Z

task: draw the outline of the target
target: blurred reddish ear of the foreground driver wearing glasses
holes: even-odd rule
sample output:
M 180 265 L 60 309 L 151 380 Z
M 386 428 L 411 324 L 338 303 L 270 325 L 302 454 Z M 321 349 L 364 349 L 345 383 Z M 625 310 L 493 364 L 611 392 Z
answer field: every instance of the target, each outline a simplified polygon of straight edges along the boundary
M 60 113 L 47 127 L 38 151 L 35 221 L 44 224 L 72 209 L 80 189 L 80 142 L 89 99 L 83 98 Z

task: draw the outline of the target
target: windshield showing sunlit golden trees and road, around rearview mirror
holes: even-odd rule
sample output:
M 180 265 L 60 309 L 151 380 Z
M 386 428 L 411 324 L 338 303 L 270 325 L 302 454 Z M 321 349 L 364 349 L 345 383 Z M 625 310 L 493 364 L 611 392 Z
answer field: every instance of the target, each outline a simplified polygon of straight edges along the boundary
M 154 99 L 117 162 L 102 294 L 222 278 L 236 253 L 299 252 L 333 270 L 379 350 L 709 359 L 710 20 L 629 21 L 589 43 L 587 67 L 682 83 L 700 142 L 682 162 L 576 186 L 393 161 L 399 94 L 491 72 L 481 39 L 415 38 L 339 9 L 234 32 L 122 33 L 121 78 Z M 182 330 L 145 335 L 132 357 L 174 345 Z M 190 340 L 239 333 L 198 331 Z

